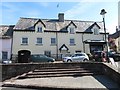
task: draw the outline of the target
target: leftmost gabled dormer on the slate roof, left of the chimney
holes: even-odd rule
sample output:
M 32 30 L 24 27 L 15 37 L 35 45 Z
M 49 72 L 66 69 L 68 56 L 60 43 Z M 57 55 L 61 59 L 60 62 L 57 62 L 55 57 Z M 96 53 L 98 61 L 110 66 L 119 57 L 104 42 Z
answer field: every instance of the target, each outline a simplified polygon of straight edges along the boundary
M 44 29 L 46 28 L 46 25 L 44 24 L 44 22 L 41 19 L 39 19 L 34 24 L 34 27 L 35 27 L 35 31 L 36 32 L 42 33 L 42 32 L 44 32 Z

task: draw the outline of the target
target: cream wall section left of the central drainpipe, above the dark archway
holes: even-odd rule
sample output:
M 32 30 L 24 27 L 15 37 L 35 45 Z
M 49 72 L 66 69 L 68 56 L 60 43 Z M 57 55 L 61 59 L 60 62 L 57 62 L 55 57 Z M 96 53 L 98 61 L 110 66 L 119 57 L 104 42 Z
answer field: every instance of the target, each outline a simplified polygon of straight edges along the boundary
M 37 32 L 14 32 L 13 34 L 13 54 L 18 54 L 19 50 L 29 50 L 32 54 L 44 54 L 43 51 L 55 52 L 56 46 L 51 46 L 51 38 L 55 37 L 55 33 L 37 33 Z M 28 45 L 21 45 L 21 38 L 28 37 Z M 36 45 L 36 38 L 43 39 L 43 45 Z M 16 41 L 18 41 L 16 43 Z

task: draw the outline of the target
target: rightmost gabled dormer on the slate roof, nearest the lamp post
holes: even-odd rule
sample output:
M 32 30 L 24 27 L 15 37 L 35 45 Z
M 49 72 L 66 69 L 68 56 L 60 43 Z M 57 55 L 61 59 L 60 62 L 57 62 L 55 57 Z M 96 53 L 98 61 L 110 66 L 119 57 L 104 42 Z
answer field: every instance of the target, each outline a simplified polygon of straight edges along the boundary
M 94 35 L 99 35 L 100 26 L 95 22 L 90 27 L 85 30 L 86 33 L 93 33 Z

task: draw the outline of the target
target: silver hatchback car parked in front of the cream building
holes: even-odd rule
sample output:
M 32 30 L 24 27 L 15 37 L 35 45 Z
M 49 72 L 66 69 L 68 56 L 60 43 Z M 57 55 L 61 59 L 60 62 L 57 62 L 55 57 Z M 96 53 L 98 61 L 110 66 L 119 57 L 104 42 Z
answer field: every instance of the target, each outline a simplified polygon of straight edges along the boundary
M 63 62 L 81 62 L 88 61 L 89 57 L 85 53 L 76 53 L 71 56 L 63 57 Z

